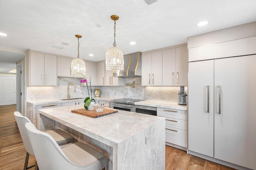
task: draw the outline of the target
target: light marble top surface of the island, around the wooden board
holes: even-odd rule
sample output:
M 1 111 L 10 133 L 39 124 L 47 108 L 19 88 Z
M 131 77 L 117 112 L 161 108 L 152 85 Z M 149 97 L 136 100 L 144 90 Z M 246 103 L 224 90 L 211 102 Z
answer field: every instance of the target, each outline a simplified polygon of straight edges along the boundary
M 55 107 L 40 109 L 39 113 L 111 147 L 165 119 L 124 110 L 98 118 L 71 112 L 82 108 L 83 105 Z

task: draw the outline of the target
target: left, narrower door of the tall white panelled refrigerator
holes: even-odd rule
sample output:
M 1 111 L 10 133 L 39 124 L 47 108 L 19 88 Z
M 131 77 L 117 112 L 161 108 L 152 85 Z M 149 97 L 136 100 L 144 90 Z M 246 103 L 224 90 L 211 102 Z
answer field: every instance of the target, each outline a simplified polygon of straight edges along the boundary
M 214 61 L 189 63 L 188 69 L 188 150 L 213 157 Z

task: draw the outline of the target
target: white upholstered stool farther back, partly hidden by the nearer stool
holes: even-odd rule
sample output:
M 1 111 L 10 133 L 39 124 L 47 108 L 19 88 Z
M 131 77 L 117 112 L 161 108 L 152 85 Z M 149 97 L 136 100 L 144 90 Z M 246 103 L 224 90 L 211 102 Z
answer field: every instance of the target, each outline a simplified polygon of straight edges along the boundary
M 19 131 L 20 131 L 20 136 L 22 138 L 24 147 L 27 151 L 25 164 L 24 164 L 24 170 L 27 170 L 27 169 L 35 166 L 35 165 L 33 165 L 33 166 L 28 167 L 29 154 L 34 155 L 34 152 L 33 152 L 29 137 L 28 137 L 27 130 L 25 128 L 25 124 L 27 122 L 31 123 L 31 121 L 27 117 L 22 116 L 22 114 L 18 111 L 14 112 L 14 116 L 15 116 Z M 74 137 L 72 137 L 70 134 L 68 134 L 60 129 L 53 129 L 53 130 L 47 131 L 46 133 L 50 134 L 53 137 L 53 139 L 58 143 L 58 145 L 67 145 L 68 143 L 74 142 Z

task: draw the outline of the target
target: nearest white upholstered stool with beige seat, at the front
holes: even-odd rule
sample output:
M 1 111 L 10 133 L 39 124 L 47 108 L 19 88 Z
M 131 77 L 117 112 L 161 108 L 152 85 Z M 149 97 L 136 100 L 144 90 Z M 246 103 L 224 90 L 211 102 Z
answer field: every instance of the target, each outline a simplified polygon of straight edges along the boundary
M 60 148 L 54 139 L 26 123 L 28 136 L 40 170 L 101 170 L 107 158 L 84 143 L 72 143 Z

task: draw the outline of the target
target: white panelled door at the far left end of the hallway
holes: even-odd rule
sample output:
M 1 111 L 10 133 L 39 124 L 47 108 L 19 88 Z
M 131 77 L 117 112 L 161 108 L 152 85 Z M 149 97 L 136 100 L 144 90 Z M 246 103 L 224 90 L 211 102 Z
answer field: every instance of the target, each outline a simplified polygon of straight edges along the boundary
M 16 104 L 16 76 L 0 76 L 0 106 Z

